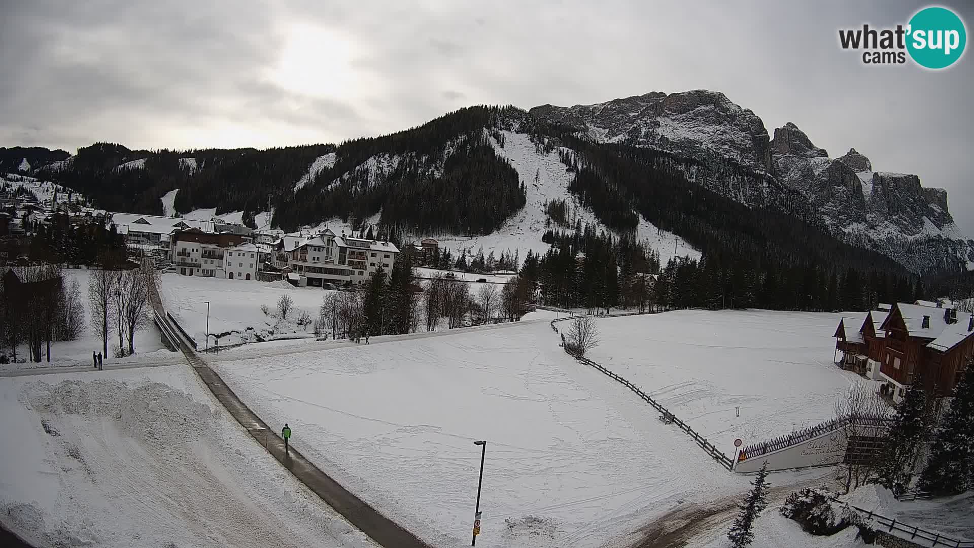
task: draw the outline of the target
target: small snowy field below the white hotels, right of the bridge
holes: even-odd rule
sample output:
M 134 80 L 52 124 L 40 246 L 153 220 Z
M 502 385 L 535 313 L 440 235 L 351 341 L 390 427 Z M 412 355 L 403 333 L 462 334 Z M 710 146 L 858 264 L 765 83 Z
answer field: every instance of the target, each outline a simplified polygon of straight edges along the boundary
M 271 340 L 274 338 L 313 337 L 312 327 L 295 324 L 301 311 L 318 318 L 318 308 L 326 294 L 320 288 L 295 288 L 287 282 L 225 280 L 200 276 L 163 274 L 159 292 L 166 310 L 179 321 L 202 349 L 206 342 L 206 302 L 209 301 L 209 343 L 220 345 Z M 294 301 L 285 321 L 265 316 L 260 305 L 275 311 L 281 295 Z M 216 336 L 219 335 L 219 336 Z

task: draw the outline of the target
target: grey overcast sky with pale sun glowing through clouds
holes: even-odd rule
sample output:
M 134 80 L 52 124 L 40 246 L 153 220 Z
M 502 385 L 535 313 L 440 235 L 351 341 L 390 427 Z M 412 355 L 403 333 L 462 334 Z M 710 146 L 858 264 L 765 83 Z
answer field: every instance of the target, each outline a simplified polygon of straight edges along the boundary
M 0 146 L 267 147 L 375 136 L 470 104 L 724 92 L 831 156 L 948 189 L 974 236 L 974 58 L 868 66 L 839 28 L 915 2 L 5 0 Z M 971 30 L 968 2 L 940 5 Z

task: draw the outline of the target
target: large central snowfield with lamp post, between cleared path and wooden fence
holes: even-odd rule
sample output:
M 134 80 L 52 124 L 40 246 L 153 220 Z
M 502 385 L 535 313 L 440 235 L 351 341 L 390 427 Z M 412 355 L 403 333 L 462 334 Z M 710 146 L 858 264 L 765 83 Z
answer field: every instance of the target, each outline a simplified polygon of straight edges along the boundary
M 322 470 L 436 546 L 470 541 L 478 439 L 477 546 L 611 546 L 682 502 L 747 487 L 565 355 L 546 321 L 384 339 L 242 348 L 212 365 Z

